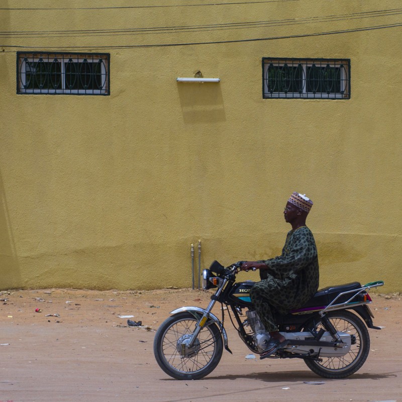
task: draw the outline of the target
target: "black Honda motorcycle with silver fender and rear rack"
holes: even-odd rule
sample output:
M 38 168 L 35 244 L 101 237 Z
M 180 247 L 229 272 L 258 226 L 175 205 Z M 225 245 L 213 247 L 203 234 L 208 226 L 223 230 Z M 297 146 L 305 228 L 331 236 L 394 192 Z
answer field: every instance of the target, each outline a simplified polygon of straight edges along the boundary
M 203 288 L 216 288 L 207 309 L 181 307 L 161 324 L 155 334 L 154 354 L 166 374 L 180 380 L 203 378 L 217 367 L 223 348 L 232 353 L 224 327 L 224 305 L 246 346 L 258 355 L 264 351 L 269 334 L 249 295 L 255 282 L 236 282 L 242 263 L 225 268 L 214 261 L 203 271 Z M 370 350 L 367 327 L 380 329 L 373 325 L 367 290 L 383 284 L 376 281 L 363 286 L 359 282 L 328 286 L 317 291 L 302 308 L 287 315 L 276 313 L 278 330 L 288 344 L 269 358 L 303 359 L 309 369 L 324 378 L 353 374 Z M 217 302 L 222 307 L 222 319 L 211 312 Z

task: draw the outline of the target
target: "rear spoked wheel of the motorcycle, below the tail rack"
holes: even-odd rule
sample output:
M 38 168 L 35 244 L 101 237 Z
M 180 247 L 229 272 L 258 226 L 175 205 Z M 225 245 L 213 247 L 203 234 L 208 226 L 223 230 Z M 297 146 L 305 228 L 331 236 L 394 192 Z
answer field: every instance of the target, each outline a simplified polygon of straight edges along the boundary
M 366 361 L 370 350 L 370 337 L 364 323 L 348 311 L 328 313 L 327 317 L 338 332 L 351 336 L 352 345 L 348 353 L 341 357 L 322 357 L 322 361 L 305 360 L 307 366 L 325 378 L 345 378 L 356 372 Z M 318 323 L 316 331 L 323 328 Z

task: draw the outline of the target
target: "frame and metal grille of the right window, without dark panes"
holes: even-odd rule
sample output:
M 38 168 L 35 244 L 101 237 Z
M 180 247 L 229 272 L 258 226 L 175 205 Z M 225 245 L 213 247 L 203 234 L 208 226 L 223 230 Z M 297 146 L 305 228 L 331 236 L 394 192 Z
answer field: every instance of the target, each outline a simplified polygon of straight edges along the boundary
M 283 70 L 285 64 L 291 67 L 298 68 L 299 65 L 302 66 L 303 74 L 303 88 L 300 91 L 270 91 L 268 89 L 268 68 L 272 64 L 275 63 L 274 67 L 281 68 Z M 307 69 L 309 67 L 315 67 L 320 70 L 320 74 L 323 74 L 327 66 L 330 68 L 341 68 L 341 77 L 340 77 L 340 91 L 329 92 L 329 91 L 308 91 L 308 85 L 314 83 L 314 79 L 306 78 L 309 74 L 307 73 Z M 310 70 L 311 71 L 311 70 Z M 338 71 L 336 71 L 338 73 Z M 286 74 L 286 72 L 285 72 Z M 295 85 L 296 77 L 293 77 L 292 84 Z M 283 81 L 279 82 L 283 85 Z M 275 86 L 279 84 L 275 82 Z M 328 83 L 328 82 L 327 82 Z M 324 78 L 320 78 L 319 82 L 317 82 L 317 86 L 324 86 L 325 81 Z M 337 85 L 338 82 L 335 82 Z M 290 87 L 290 84 L 288 88 Z M 263 57 L 262 58 L 262 97 L 264 99 L 331 99 L 331 100 L 340 100 L 340 99 L 350 99 L 350 59 L 323 59 L 323 58 L 284 58 L 284 57 Z

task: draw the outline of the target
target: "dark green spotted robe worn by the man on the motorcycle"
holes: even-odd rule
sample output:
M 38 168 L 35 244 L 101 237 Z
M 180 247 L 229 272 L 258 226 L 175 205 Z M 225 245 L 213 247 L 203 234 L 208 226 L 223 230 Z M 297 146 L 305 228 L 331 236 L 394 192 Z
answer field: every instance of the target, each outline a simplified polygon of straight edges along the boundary
M 251 302 L 268 332 L 277 331 L 272 308 L 281 314 L 303 306 L 317 291 L 319 267 L 316 242 L 307 226 L 287 233 L 282 254 L 260 260 L 261 281 L 250 290 Z

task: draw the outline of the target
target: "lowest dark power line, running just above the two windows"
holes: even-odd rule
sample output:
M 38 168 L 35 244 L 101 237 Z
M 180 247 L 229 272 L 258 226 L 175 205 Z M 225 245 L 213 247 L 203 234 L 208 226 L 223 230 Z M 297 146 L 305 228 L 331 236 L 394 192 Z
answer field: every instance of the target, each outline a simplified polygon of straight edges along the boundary
M 173 47 L 173 46 L 195 46 L 195 45 L 217 45 L 217 44 L 225 44 L 225 43 L 244 43 L 244 42 L 255 42 L 255 41 L 270 41 L 270 40 L 280 40 L 280 39 L 294 39 L 294 38 L 307 38 L 314 36 L 323 36 L 323 35 L 337 35 L 337 34 L 347 34 L 353 32 L 363 32 L 363 31 L 372 31 L 378 29 L 389 29 L 401 27 L 402 23 L 395 23 L 389 25 L 377 25 L 372 27 L 363 27 L 363 28 L 351 28 L 339 31 L 327 31 L 327 32 L 317 32 L 312 34 L 297 34 L 297 35 L 286 35 L 286 36 L 276 36 L 276 37 L 268 37 L 268 38 L 254 38 L 254 39 L 239 39 L 239 40 L 227 40 L 227 41 L 211 41 L 211 42 L 190 42 L 190 43 L 168 43 L 168 44 L 154 44 L 154 45 L 117 45 L 117 46 L 62 46 L 62 47 L 48 47 L 46 49 L 58 49 L 62 50 L 88 50 L 88 49 L 97 49 L 97 50 L 111 50 L 111 49 L 139 49 L 139 48 L 150 48 L 150 47 Z M 24 48 L 24 49 L 40 49 L 42 47 L 37 46 L 14 46 L 14 45 L 5 45 L 0 47 L 3 48 Z

